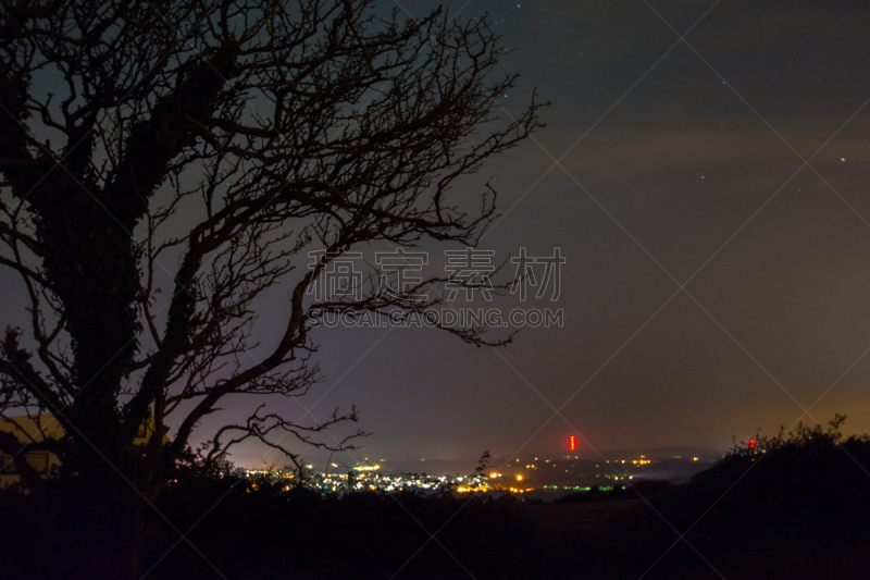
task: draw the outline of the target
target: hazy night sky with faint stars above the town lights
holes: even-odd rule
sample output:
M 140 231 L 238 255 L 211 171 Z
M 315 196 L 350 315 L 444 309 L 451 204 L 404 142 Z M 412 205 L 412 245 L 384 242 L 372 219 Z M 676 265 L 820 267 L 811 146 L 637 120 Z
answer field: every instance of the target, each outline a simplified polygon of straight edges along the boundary
M 400 5 L 419 17 L 436 4 Z M 724 451 L 733 435 L 834 412 L 848 415 L 846 432 L 870 431 L 870 9 L 448 5 L 488 11 L 509 49 L 501 69 L 522 74 L 495 109 L 501 122 L 534 87 L 551 103 L 547 127 L 463 183 L 470 196 L 486 178 L 499 192 L 504 218 L 481 244 L 498 261 L 561 249 L 558 301 L 534 306 L 562 308 L 564 326 L 524 330 L 498 350 L 426 329 L 320 329 L 326 380 L 275 409 L 323 419 L 356 403 L 373 434 L 333 458 L 345 462 L 527 457 L 561 452 L 571 433 L 605 456 Z M 445 248 L 423 246 L 435 266 Z M 260 301 L 264 351 L 289 287 Z M 14 303 L 2 320 L 17 320 Z M 224 407 L 240 418 L 259 400 L 237 403 Z M 250 446 L 234 459 L 263 457 Z

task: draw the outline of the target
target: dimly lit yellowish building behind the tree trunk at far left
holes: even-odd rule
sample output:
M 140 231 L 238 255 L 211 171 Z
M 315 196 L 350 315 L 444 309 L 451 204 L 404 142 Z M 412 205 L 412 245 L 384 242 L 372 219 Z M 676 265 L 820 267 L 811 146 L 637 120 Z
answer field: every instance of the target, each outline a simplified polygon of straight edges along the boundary
M 13 433 L 20 442 L 40 442 L 46 439 L 61 439 L 65 431 L 61 423 L 54 419 L 51 414 L 41 414 L 39 416 L 29 417 L 23 415 L 20 417 L 11 417 L 9 419 L 0 418 L 0 431 L 5 433 Z M 133 441 L 135 445 L 145 445 L 151 435 L 154 433 L 154 420 L 149 419 L 139 425 L 139 432 Z M 164 443 L 169 443 L 170 439 L 163 436 Z M 50 477 L 57 473 L 61 465 L 60 458 L 48 451 L 25 451 L 24 458 L 30 467 L 42 477 Z M 9 488 L 14 483 L 21 481 L 21 476 L 15 469 L 15 462 L 12 456 L 8 453 L 0 453 L 0 490 Z

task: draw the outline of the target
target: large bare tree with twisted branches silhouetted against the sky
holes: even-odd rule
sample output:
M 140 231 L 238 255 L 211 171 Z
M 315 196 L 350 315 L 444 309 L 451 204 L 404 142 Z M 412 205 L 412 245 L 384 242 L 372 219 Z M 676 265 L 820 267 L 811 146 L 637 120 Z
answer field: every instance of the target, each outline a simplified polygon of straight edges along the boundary
M 0 266 L 30 322 L 5 333 L 2 409 L 54 416 L 66 436 L 32 445 L 64 477 L 116 468 L 153 498 L 220 402 L 316 382 L 312 312 L 438 303 L 377 284 L 313 300 L 331 261 L 378 240 L 473 246 L 494 219 L 494 189 L 453 185 L 540 125 L 534 96 L 496 119 L 514 77 L 490 78 L 504 47 L 485 17 L 377 17 L 372 4 L 2 0 Z M 312 247 L 324 252 L 307 269 Z M 285 331 L 259 345 L 253 303 L 279 281 Z M 445 330 L 486 343 L 477 326 Z M 258 346 L 261 360 L 244 356 Z M 260 407 L 210 452 L 256 437 L 296 458 L 278 433 L 340 448 L 314 435 L 356 418 L 303 425 Z M 158 436 L 142 449 L 148 420 Z

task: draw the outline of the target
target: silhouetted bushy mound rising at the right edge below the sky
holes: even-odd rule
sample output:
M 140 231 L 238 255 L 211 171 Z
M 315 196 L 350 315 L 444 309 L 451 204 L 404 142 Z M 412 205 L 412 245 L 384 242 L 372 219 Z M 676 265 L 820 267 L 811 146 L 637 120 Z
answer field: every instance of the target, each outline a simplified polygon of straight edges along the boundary
M 843 441 L 844 420 L 735 445 L 654 498 L 658 514 L 646 514 L 647 522 L 667 519 L 741 578 L 870 578 L 870 440 Z

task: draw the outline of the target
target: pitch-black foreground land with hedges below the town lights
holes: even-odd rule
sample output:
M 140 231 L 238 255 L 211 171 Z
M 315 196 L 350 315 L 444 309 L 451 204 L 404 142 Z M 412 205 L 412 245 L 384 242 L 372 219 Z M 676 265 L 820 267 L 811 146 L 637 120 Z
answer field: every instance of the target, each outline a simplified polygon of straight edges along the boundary
M 215 569 L 258 580 L 870 578 L 870 442 L 816 430 L 768 443 L 684 485 L 559 503 L 337 497 L 195 476 L 158 503 L 178 530 L 192 528 L 190 543 L 152 511 L 144 569 L 154 579 L 220 578 Z M 99 578 L 105 546 L 52 523 L 63 521 L 58 497 L 3 496 L 4 578 Z

